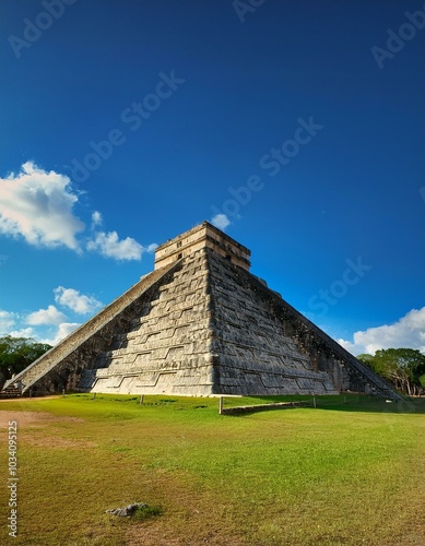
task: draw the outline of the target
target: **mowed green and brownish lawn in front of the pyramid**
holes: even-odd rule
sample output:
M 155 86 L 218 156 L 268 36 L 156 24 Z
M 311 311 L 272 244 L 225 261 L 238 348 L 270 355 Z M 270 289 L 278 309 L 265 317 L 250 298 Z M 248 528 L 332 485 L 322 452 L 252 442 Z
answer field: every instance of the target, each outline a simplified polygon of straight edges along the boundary
M 294 400 L 225 399 L 225 406 Z M 1 544 L 422 545 L 425 401 L 318 397 L 220 416 L 216 399 L 67 395 L 0 403 L 19 427 L 19 537 Z M 35 412 L 36 415 L 28 414 Z M 145 502 L 152 515 L 105 510 Z

